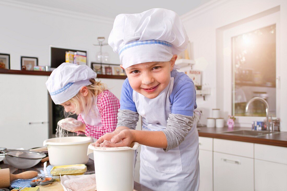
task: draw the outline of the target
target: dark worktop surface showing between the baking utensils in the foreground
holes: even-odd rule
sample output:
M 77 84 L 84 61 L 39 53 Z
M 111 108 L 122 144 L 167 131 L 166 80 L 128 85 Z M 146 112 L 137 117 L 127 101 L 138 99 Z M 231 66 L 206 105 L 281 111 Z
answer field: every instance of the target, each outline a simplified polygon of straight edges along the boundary
M 49 165 L 49 161 L 47 162 L 47 166 Z M 85 174 L 91 174 L 91 173 L 95 173 L 95 166 L 94 166 L 94 161 L 89 159 L 88 163 L 86 164 L 87 166 L 87 171 Z M 17 169 L 15 167 L 12 167 L 11 165 L 9 164 L 4 164 L 3 161 L 0 162 L 0 168 L 3 169 L 3 168 L 9 168 L 10 169 L 10 173 L 11 174 L 19 174 L 21 172 L 25 172 L 25 171 L 28 171 L 28 170 L 34 170 L 34 171 L 37 171 L 38 174 L 40 174 L 40 169 L 43 170 L 43 163 L 38 163 L 36 166 L 32 167 L 32 168 L 28 168 L 28 169 Z M 49 187 L 47 187 L 49 188 Z M 60 187 L 61 188 L 61 187 Z M 137 182 L 134 182 L 134 189 L 136 191 L 152 191 L 150 190 L 149 188 L 137 183 Z M 12 190 L 12 188 L 10 188 L 10 190 Z M 63 190 L 63 189 L 62 189 Z

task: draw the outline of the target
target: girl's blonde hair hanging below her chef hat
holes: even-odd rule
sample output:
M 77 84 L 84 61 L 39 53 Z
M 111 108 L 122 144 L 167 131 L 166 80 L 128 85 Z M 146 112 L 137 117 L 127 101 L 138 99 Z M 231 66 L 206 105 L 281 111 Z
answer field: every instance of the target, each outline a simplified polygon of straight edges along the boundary
M 106 84 L 101 83 L 100 81 L 96 81 L 95 79 L 90 79 L 90 82 L 92 84 L 86 85 L 88 88 L 88 95 L 84 97 L 80 92 L 77 93 L 73 98 L 71 98 L 69 101 L 75 105 L 75 112 L 71 113 L 84 113 L 85 115 L 90 111 L 92 108 L 94 99 L 102 93 L 104 90 L 107 89 Z

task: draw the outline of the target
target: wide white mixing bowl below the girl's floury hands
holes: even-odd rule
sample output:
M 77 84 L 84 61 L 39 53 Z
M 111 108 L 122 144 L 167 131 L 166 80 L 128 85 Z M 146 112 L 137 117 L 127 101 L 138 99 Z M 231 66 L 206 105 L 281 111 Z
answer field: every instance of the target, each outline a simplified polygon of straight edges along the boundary
M 43 146 L 47 145 L 50 164 L 59 166 L 86 164 L 90 143 L 93 143 L 90 137 L 57 137 L 45 140 Z

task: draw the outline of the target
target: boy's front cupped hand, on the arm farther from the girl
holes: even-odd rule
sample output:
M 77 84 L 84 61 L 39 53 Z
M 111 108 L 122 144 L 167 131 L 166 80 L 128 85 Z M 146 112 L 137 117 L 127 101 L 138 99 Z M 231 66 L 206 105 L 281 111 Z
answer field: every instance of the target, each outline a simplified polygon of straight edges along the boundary
M 134 137 L 132 130 L 122 130 L 117 135 L 115 135 L 110 141 L 105 141 L 102 147 L 129 147 L 133 142 Z

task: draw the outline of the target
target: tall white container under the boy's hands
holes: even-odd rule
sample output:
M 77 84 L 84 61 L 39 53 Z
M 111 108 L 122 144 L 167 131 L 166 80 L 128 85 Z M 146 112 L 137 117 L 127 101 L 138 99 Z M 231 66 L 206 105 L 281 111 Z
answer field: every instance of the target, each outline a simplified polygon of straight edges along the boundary
M 97 191 L 133 191 L 137 147 L 137 142 L 133 142 L 130 147 L 89 145 L 88 154 L 94 153 Z

